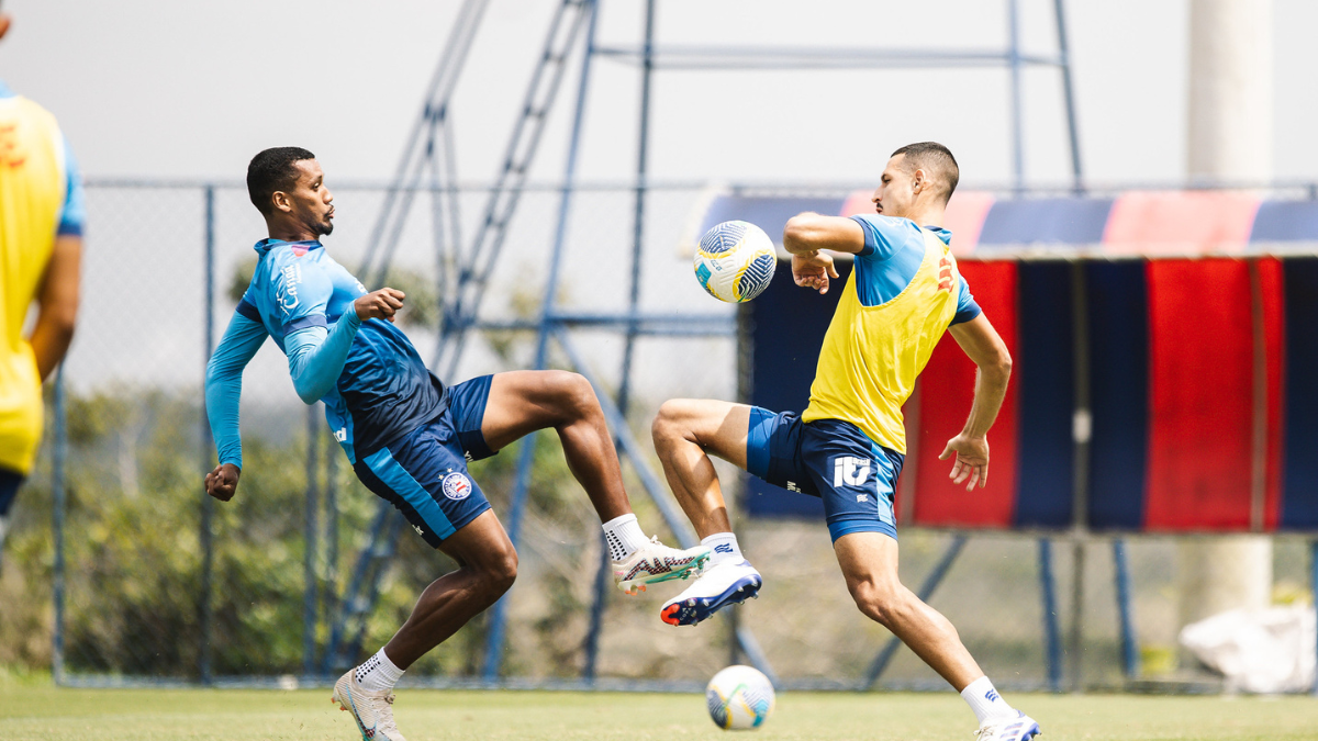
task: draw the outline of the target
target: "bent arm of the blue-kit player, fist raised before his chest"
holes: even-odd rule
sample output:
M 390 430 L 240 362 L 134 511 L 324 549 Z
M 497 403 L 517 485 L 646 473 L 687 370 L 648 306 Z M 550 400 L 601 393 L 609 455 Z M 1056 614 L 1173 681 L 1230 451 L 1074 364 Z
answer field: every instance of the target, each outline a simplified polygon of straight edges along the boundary
M 315 403 L 330 393 L 343 373 L 343 364 L 348 360 L 352 339 L 357 336 L 361 323 L 366 319 L 393 322 L 394 314 L 402 309 L 403 298 L 401 290 L 380 289 L 355 301 L 353 311 L 344 311 L 332 330 L 306 327 L 283 338 L 283 347 L 289 352 L 289 374 L 293 376 L 298 397 L 306 403 Z

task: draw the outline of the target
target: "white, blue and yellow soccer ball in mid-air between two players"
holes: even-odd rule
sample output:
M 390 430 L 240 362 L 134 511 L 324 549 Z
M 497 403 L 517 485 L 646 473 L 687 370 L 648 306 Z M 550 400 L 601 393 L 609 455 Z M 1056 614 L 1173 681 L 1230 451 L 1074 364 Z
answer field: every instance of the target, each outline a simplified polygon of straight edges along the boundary
M 741 303 L 768 287 L 778 266 L 774 240 L 746 222 L 716 224 L 700 237 L 696 280 L 718 301 Z

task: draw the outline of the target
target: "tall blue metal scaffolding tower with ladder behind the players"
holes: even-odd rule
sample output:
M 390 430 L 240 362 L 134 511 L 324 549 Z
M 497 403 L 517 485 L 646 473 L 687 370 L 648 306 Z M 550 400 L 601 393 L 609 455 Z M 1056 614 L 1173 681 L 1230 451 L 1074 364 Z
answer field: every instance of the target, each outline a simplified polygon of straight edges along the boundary
M 1070 145 L 1072 189 L 1074 193 L 1082 193 L 1083 179 L 1062 0 L 1053 1 L 1057 50 L 1050 54 L 1027 54 L 1021 50 L 1019 0 L 1004 0 L 1004 3 L 1008 40 L 1006 49 L 845 49 L 659 45 L 655 40 L 656 0 L 646 0 L 645 25 L 639 45 L 600 45 L 596 42 L 596 21 L 601 0 L 560 0 L 551 16 L 543 51 L 536 57 L 523 105 L 513 125 L 496 185 L 488 194 L 484 218 L 477 224 L 469 247 L 464 248 L 457 208 L 455 144 L 449 125 L 451 100 L 489 4 L 489 0 L 467 0 L 459 11 L 440 63 L 427 88 L 422 115 L 407 140 L 394 183 L 372 232 L 358 276 L 372 285 L 381 283 L 389 270 L 416 196 L 428 195 L 431 199 L 431 229 L 439 268 L 439 294 L 442 297 L 442 318 L 432 367 L 443 377 L 451 377 L 457 368 L 468 332 L 473 328 L 498 326 L 482 323 L 480 316 L 489 278 L 498 261 L 509 222 L 517 210 L 547 120 L 558 100 L 560 84 L 567 75 L 568 61 L 579 58 L 572 128 L 567 142 L 567 162 L 543 301 L 538 319 L 522 328 L 536 332 L 535 368 L 547 365 L 550 345 L 554 343 L 571 365 L 590 381 L 614 434 L 619 459 L 631 464 L 646 494 L 655 502 L 668 527 L 683 546 L 689 547 L 697 542 L 695 531 L 681 516 L 662 477 L 650 467 L 646 451 L 634 438 L 626 422 L 635 341 L 641 336 L 729 336 L 735 334 L 735 327 L 726 315 L 646 314 L 641 310 L 643 278 L 641 261 L 646 198 L 650 187 L 647 163 L 654 74 L 660 70 L 1004 69 L 1010 79 L 1012 182 L 1019 193 L 1024 189 L 1021 71 L 1025 67 L 1054 69 L 1060 73 L 1062 82 Z M 590 73 L 596 59 L 634 65 L 641 71 L 635 199 L 627 306 L 617 312 L 581 314 L 559 306 L 556 294 L 567 241 L 568 216 L 577 185 L 576 167 L 583 145 L 581 133 Z M 616 396 L 610 394 L 601 384 L 601 378 L 590 372 L 577 352 L 572 332 L 583 326 L 618 332 L 625 339 L 622 363 L 616 380 Z M 532 451 L 534 443 L 530 440 L 521 448 L 511 505 L 506 513 L 507 533 L 514 545 L 518 543 L 522 514 L 527 504 Z M 401 516 L 394 513 L 389 504 L 381 502 L 372 527 L 370 543 L 358 555 L 348 588 L 337 601 L 340 609 L 333 618 L 330 646 L 322 667 L 327 674 L 351 666 L 361 651 L 366 617 L 374 608 L 380 581 L 395 552 L 401 522 Z M 594 583 L 590 628 L 584 646 L 583 678 L 587 683 L 593 682 L 596 676 L 601 614 L 609 583 L 606 551 L 604 554 Z M 936 585 L 936 581 L 933 584 Z M 308 595 L 307 600 L 308 604 L 312 604 L 314 595 Z M 498 680 L 501 675 L 506 605 L 507 597 L 492 608 L 484 663 L 484 679 L 489 682 Z M 734 624 L 733 636 L 735 637 L 734 659 L 739 653 L 746 661 L 772 678 L 774 674 L 767 658 L 750 629 Z M 882 671 L 882 665 L 876 665 L 876 667 L 878 671 Z M 878 671 L 871 670 L 871 674 L 876 676 Z

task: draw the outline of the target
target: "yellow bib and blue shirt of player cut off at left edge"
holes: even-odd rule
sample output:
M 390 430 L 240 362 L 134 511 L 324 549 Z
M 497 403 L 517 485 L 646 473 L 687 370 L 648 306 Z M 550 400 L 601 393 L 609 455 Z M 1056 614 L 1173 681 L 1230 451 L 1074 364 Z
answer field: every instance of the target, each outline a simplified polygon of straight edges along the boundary
M 22 326 L 55 236 L 82 236 L 84 214 L 55 117 L 0 82 L 0 468 L 22 475 L 41 440 L 41 376 Z

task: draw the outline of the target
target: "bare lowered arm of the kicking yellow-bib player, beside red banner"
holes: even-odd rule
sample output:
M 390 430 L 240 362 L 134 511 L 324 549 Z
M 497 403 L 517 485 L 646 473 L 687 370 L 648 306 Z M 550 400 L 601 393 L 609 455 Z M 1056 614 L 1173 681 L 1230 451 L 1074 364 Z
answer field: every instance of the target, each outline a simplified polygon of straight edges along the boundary
M 1007 396 L 1007 382 L 1011 378 L 1011 353 L 1007 344 L 998 336 L 988 319 L 981 314 L 974 319 L 953 324 L 949 330 L 961 349 L 974 361 L 975 372 L 975 401 L 970 406 L 970 418 L 961 434 L 948 440 L 948 447 L 942 450 L 940 460 L 956 456 L 952 464 L 952 473 L 948 475 L 954 484 L 961 484 L 966 479 L 966 490 L 971 490 L 978 484 L 988 484 L 988 429 L 998 418 L 1002 409 L 1002 400 Z

